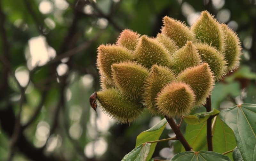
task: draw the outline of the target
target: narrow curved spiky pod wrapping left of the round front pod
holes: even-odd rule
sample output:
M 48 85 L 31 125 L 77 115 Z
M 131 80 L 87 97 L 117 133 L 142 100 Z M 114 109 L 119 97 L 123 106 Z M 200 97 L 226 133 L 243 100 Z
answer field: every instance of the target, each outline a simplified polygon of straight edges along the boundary
M 153 65 L 150 76 L 145 80 L 142 87 L 142 99 L 148 111 L 155 115 L 158 113 L 156 108 L 156 96 L 161 89 L 175 79 L 175 74 L 167 67 Z

